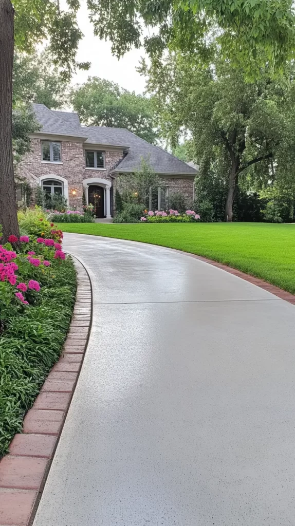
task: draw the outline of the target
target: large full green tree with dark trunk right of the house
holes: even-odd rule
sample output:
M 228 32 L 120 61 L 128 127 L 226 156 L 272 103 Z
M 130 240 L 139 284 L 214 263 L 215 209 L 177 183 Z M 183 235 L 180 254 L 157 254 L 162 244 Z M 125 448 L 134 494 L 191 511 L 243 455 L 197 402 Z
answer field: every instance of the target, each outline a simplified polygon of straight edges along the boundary
M 143 72 L 149 76 L 164 136 L 174 145 L 188 133 L 201 170 L 218 164 L 226 173 L 226 219 L 232 220 L 241 177 L 257 170 L 267 184 L 287 171 L 294 174 L 292 64 L 288 75 L 272 79 L 265 68 L 259 80 L 247 83 L 242 69 L 225 62 L 219 52 L 208 68 L 196 57 L 178 53 L 150 68 L 144 65 Z

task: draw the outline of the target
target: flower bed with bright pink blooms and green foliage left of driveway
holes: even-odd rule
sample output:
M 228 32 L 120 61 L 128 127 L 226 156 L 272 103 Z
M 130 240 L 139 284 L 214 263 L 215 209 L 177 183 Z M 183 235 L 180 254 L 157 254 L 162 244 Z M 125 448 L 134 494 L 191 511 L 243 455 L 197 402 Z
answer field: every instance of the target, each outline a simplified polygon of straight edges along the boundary
M 63 234 L 41 234 L 0 245 L 0 456 L 59 358 L 74 307 L 76 274 Z

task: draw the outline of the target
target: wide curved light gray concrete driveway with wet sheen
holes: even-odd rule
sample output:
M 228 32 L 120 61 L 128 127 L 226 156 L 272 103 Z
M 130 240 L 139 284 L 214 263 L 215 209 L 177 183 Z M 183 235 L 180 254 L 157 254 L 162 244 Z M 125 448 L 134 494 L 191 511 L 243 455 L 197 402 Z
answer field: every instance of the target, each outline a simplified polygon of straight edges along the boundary
M 294 306 L 166 248 L 64 246 L 93 328 L 34 526 L 294 526 Z

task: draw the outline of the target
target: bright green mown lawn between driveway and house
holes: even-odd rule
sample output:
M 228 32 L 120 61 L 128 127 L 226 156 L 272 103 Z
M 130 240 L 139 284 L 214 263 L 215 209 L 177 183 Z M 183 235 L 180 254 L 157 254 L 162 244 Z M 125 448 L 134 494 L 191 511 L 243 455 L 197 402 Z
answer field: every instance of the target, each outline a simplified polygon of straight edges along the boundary
M 65 232 L 132 239 L 215 259 L 295 294 L 295 225 L 60 223 Z

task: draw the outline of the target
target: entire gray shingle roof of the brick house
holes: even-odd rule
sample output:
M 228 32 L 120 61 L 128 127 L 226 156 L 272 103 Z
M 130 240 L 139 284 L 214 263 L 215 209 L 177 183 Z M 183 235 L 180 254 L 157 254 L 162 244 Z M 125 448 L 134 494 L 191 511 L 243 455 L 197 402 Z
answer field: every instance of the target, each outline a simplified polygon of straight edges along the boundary
M 149 161 L 158 174 L 195 176 L 197 173 L 193 167 L 125 128 L 85 127 L 80 125 L 76 113 L 53 111 L 44 104 L 33 104 L 33 107 L 36 118 L 42 125 L 40 133 L 82 137 L 86 138 L 86 145 L 119 146 L 127 150 L 127 155 L 113 170 L 114 173 L 130 173 L 140 169 L 142 158 Z

